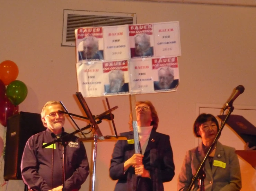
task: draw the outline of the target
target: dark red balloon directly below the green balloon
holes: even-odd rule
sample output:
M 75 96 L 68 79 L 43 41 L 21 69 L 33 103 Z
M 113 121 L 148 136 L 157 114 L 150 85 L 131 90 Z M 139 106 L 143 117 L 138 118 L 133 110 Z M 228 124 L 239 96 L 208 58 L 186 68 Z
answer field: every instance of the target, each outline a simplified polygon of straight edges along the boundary
M 5 96 L 0 102 L 0 123 L 6 127 L 7 119 L 19 112 L 19 106 L 14 104 Z

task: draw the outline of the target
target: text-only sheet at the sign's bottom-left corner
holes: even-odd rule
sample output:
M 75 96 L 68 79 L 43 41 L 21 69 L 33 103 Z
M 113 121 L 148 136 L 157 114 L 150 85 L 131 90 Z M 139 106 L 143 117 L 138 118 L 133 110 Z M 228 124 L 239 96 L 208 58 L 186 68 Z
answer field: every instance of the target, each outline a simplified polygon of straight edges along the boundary
M 78 91 L 83 97 L 104 96 L 102 62 L 78 62 L 76 68 Z

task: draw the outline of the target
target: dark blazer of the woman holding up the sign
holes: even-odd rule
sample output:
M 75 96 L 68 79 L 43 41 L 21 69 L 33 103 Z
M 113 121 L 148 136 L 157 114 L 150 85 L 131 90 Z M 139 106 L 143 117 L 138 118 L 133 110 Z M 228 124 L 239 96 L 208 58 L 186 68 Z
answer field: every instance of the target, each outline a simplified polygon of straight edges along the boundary
M 133 132 L 121 133 L 120 136 L 127 136 L 128 140 L 133 139 Z M 118 180 L 115 191 L 136 191 L 137 177 L 134 168 L 131 166 L 124 173 L 124 162 L 134 153 L 134 144 L 128 144 L 127 140 L 116 142 L 109 169 L 110 177 Z M 153 191 L 163 191 L 163 182 L 171 181 L 174 177 L 173 151 L 169 135 L 152 129 L 142 162 L 144 168 L 150 172 Z

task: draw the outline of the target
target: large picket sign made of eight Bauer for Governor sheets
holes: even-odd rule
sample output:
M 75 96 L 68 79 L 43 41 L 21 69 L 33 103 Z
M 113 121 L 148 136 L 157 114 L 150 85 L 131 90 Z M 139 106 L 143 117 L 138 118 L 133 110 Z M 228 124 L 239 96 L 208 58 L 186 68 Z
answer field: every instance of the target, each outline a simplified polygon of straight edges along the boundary
M 78 89 L 84 97 L 176 91 L 179 22 L 75 30 Z

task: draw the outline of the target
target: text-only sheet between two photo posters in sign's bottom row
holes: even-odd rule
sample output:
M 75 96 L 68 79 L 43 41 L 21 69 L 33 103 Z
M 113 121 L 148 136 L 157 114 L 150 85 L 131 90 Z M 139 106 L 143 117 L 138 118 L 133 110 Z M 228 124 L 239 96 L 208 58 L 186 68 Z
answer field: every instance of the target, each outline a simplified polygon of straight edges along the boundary
M 130 61 L 131 94 L 153 93 L 152 59 Z

